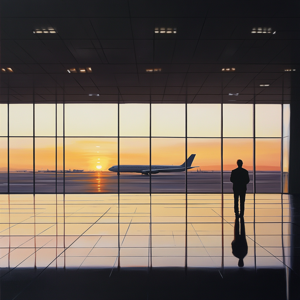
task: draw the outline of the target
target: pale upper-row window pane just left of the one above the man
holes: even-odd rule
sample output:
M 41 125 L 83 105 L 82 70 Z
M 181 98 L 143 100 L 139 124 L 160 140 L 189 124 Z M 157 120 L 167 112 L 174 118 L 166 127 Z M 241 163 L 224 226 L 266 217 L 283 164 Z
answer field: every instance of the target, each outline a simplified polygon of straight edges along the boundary
M 221 104 L 187 104 L 188 137 L 221 136 Z

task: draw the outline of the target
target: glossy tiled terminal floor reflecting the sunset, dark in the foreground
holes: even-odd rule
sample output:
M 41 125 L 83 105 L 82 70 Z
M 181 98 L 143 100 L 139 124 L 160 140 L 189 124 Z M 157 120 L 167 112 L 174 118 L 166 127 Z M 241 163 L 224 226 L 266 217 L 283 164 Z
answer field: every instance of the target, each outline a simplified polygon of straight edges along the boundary
M 232 194 L 0 199 L 1 299 L 299 296 L 299 197 L 247 194 L 240 219 Z

